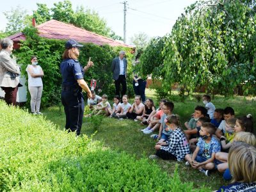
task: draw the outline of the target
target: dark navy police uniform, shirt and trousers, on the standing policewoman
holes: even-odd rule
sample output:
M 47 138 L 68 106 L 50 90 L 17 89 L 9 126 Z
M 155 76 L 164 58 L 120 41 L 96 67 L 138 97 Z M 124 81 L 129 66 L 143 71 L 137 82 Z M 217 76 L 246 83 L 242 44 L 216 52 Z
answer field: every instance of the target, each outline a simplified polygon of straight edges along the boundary
M 66 114 L 65 128 L 72 132 L 76 131 L 78 136 L 83 123 L 84 98 L 77 79 L 84 78 L 84 70 L 79 61 L 73 59 L 63 60 L 60 70 L 62 75 L 61 102 Z

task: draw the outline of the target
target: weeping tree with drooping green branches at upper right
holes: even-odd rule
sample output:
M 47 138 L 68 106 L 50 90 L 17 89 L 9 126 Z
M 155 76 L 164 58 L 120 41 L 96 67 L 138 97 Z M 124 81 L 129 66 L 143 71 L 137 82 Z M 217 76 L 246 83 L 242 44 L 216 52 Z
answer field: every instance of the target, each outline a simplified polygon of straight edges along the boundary
M 209 92 L 228 96 L 241 86 L 244 95 L 255 95 L 256 15 L 251 3 L 198 1 L 186 8 L 164 40 L 164 87 L 179 83 L 193 92 L 206 85 Z

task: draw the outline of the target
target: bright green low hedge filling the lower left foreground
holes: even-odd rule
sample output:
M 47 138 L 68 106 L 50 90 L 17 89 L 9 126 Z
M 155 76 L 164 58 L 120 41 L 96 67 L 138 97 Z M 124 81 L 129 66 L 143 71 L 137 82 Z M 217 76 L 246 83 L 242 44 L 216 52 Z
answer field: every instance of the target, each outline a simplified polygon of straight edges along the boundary
M 169 177 L 155 162 L 77 138 L 1 100 L 0 114 L 0 191 L 193 191 L 177 169 Z

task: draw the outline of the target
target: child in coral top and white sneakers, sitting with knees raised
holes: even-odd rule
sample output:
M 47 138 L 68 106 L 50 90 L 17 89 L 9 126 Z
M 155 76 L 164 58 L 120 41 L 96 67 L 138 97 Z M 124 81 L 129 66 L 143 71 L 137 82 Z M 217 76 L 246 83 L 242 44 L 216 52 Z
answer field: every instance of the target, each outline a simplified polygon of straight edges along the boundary
M 160 104 L 159 104 L 159 108 L 158 108 L 158 111 L 156 112 L 155 115 L 152 116 L 152 118 L 149 120 L 149 125 L 145 128 L 145 129 L 141 129 L 141 131 L 144 133 L 144 134 L 151 134 L 153 131 L 155 131 L 156 129 L 159 129 L 160 127 L 160 120 L 161 120 L 161 117 L 163 116 L 164 114 L 164 111 L 163 111 L 163 105 L 164 103 L 166 103 L 167 100 L 166 99 L 161 99 L 160 101 Z M 149 118 L 149 117 L 148 117 Z M 152 138 L 154 137 L 154 139 L 157 139 L 157 136 L 158 134 L 154 134 L 152 136 Z M 151 136 L 150 136 L 151 137 Z

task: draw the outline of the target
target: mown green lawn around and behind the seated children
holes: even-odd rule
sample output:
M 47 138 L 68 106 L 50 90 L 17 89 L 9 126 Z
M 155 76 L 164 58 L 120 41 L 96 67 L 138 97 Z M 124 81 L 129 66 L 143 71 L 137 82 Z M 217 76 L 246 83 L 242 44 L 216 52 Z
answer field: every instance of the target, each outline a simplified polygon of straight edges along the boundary
M 153 98 L 154 91 L 146 90 L 147 97 Z M 203 105 L 202 101 L 198 102 L 195 98 L 186 99 L 185 102 L 180 102 L 177 95 L 173 95 L 173 103 L 175 105 L 174 113 L 180 115 L 181 122 L 184 124 L 191 113 L 193 113 L 195 106 Z M 256 102 L 252 98 L 234 97 L 232 99 L 225 100 L 221 96 L 214 97 L 212 100 L 216 108 L 225 108 L 231 106 L 235 109 L 236 116 L 246 115 L 251 113 L 256 115 Z M 130 100 L 132 103 L 132 100 Z M 58 107 L 52 107 L 42 111 L 47 119 L 60 126 L 60 129 L 65 127 L 65 113 L 63 109 L 59 110 Z M 137 158 L 143 156 L 148 157 L 150 154 L 154 154 L 154 144 L 156 141 L 152 140 L 148 135 L 140 132 L 143 126 L 138 122 L 131 120 L 116 120 L 113 118 L 103 118 L 99 127 L 97 127 L 97 133 L 93 136 L 93 140 L 102 141 L 105 147 L 113 148 L 118 151 L 125 151 L 128 154 L 132 154 Z M 84 118 L 84 123 L 81 132 L 83 134 L 92 135 L 95 132 L 93 123 L 88 118 Z M 175 168 L 175 161 L 158 161 L 159 166 L 163 168 L 170 175 L 173 174 Z M 213 189 L 218 189 L 220 186 L 228 184 L 221 178 L 221 174 L 218 172 L 212 173 L 211 177 L 206 177 L 193 168 L 186 167 L 184 162 L 179 163 L 179 174 L 182 181 L 193 182 L 195 188 L 200 186 L 209 186 Z

